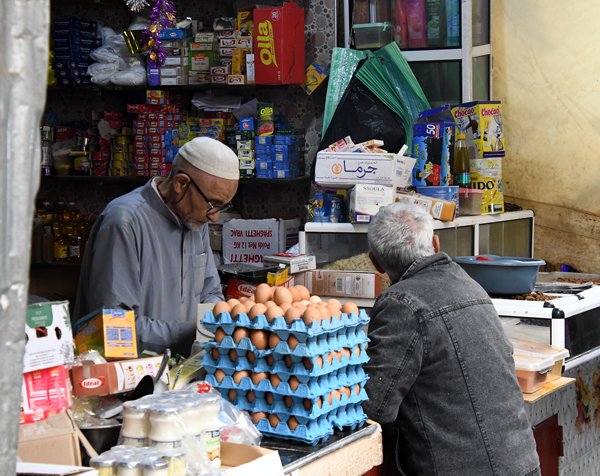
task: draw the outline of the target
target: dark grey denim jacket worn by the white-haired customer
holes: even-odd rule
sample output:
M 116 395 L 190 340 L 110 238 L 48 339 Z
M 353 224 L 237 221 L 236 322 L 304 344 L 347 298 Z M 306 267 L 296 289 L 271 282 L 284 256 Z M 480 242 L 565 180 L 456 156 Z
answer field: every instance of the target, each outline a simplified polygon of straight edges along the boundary
M 486 292 L 445 253 L 415 261 L 377 299 L 367 415 L 399 473 L 539 474 L 512 358 Z

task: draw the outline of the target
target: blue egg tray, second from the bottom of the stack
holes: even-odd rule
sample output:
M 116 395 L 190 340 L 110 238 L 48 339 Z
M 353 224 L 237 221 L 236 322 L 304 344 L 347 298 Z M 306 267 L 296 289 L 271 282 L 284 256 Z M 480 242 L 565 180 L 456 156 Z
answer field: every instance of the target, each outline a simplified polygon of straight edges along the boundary
M 354 390 L 355 385 L 350 389 L 350 396 L 342 394 L 340 399 L 332 398 L 331 403 L 325 395 L 319 397 L 321 399 L 321 406 L 319 407 L 316 403 L 318 398 L 308 399 L 310 400 L 312 407 L 307 410 L 304 407 L 303 398 L 292 397 L 292 406 L 288 407 L 283 399 L 283 396 L 275 396 L 273 403 L 269 404 L 266 400 L 265 392 L 256 392 L 255 399 L 253 402 L 249 402 L 246 398 L 246 394 L 238 394 L 235 399 L 229 398 L 228 389 L 219 389 L 223 398 L 233 403 L 240 410 L 246 410 L 248 412 L 266 412 L 266 413 L 277 413 L 288 416 L 295 416 L 299 423 L 306 424 L 308 421 L 316 420 L 332 411 L 336 411 L 339 408 L 360 404 L 369 399 L 367 392 L 364 389 L 366 380 L 357 383 L 359 386 L 359 393 L 357 394 Z

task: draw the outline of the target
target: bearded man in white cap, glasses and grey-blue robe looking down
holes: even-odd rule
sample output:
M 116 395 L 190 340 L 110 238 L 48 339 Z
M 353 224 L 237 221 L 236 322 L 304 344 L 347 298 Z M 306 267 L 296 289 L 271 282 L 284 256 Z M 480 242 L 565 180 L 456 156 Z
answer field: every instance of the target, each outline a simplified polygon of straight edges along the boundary
M 136 310 L 140 350 L 189 355 L 198 304 L 223 299 L 207 223 L 229 208 L 238 180 L 235 153 L 196 138 L 168 178 L 110 202 L 87 242 L 75 319 L 125 305 Z

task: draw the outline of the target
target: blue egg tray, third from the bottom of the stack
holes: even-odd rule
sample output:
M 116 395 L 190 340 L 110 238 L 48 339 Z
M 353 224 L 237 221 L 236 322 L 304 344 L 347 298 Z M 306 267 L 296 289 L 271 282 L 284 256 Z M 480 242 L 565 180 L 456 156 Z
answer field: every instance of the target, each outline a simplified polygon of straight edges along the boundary
M 290 376 L 288 375 L 287 377 L 288 379 L 286 380 L 283 380 L 283 378 L 280 377 L 281 382 L 279 382 L 276 388 L 273 387 L 269 379 L 263 379 L 258 384 L 255 384 L 252 382 L 251 377 L 243 377 L 239 383 L 236 383 L 231 375 L 225 375 L 222 380 L 218 382 L 214 374 L 208 374 L 206 376 L 206 381 L 213 387 L 219 389 L 233 388 L 235 390 L 273 392 L 280 395 L 290 395 L 300 398 L 317 398 L 331 390 L 341 387 L 350 387 L 362 382 L 367 378 L 367 374 L 362 367 L 355 366 L 340 369 L 337 372 L 323 375 L 321 377 L 303 378 L 304 382 L 302 382 L 300 376 L 297 376 L 300 384 L 295 390 L 292 390 L 290 384 L 288 383 Z

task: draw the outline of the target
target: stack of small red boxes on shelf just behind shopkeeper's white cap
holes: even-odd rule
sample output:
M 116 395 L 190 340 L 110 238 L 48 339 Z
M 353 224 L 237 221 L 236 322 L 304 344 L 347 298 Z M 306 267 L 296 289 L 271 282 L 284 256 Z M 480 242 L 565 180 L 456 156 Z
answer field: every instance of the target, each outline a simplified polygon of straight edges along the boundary
M 179 150 L 182 110 L 171 104 L 168 92 L 158 90 L 146 91 L 146 104 L 128 104 L 127 110 L 137 113 L 133 122 L 133 175 L 167 176 Z

